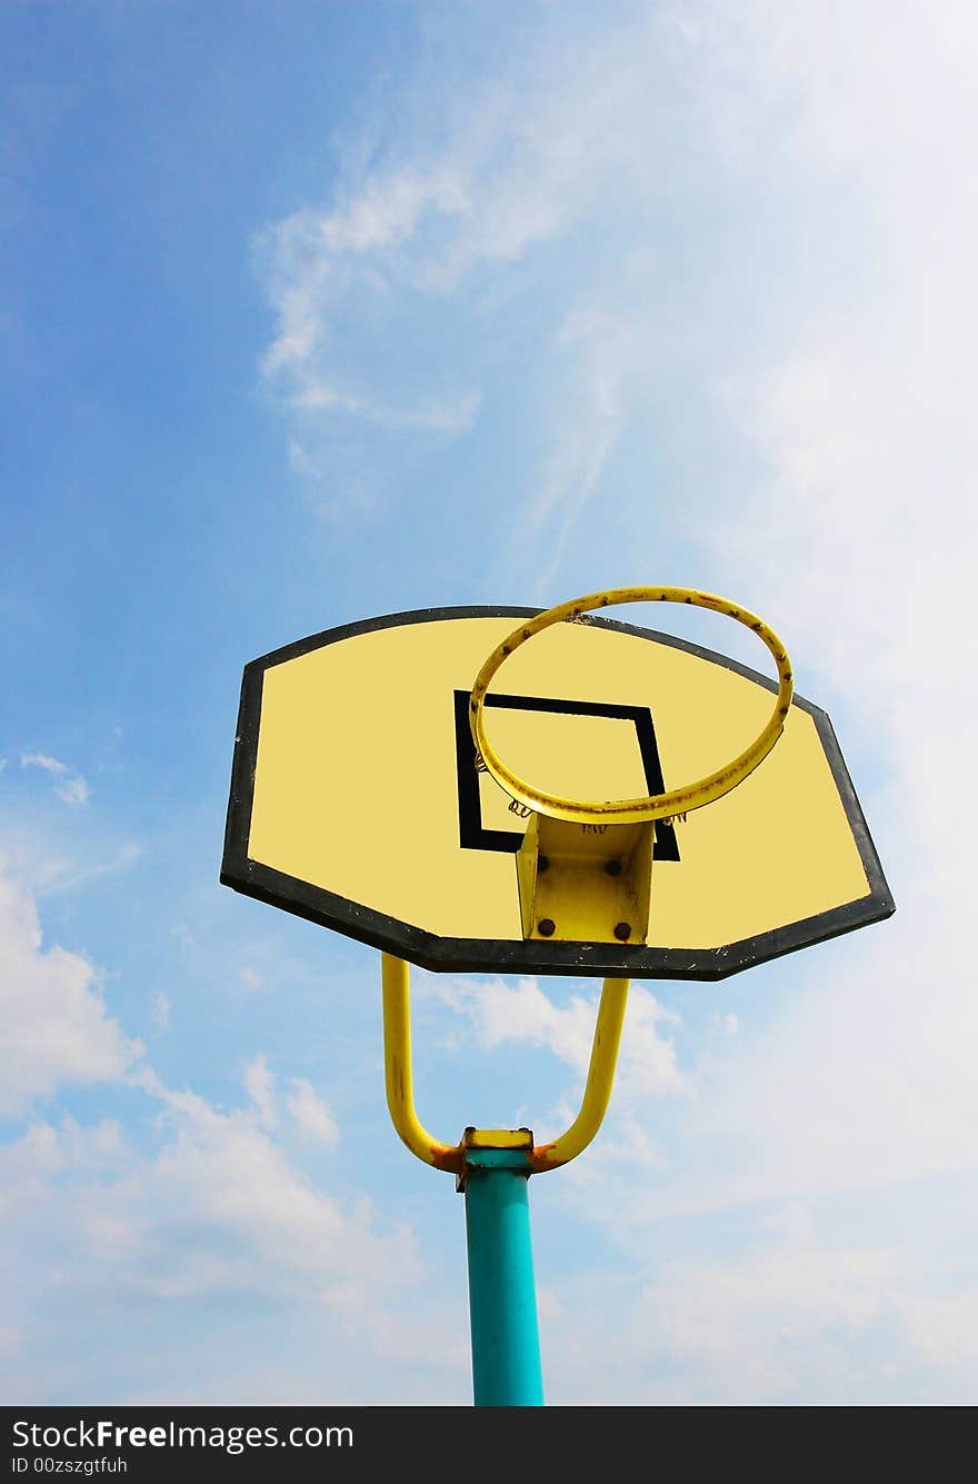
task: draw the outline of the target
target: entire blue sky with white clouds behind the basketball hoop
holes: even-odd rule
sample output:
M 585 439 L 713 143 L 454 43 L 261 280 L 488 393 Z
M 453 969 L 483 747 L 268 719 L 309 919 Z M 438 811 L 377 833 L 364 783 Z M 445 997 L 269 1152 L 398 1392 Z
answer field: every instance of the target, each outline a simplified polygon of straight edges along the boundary
M 240 671 L 675 582 L 784 635 L 898 914 L 632 991 L 531 1183 L 548 1399 L 974 1401 L 972 7 L 0 30 L 4 1395 L 467 1404 L 378 957 L 218 886 Z M 414 988 L 432 1129 L 559 1131 L 598 984 Z

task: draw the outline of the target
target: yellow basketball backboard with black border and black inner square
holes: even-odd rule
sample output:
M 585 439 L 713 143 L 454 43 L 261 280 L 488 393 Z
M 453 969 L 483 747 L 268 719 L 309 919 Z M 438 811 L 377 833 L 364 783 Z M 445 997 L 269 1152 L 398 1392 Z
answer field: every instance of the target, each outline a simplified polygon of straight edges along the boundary
M 518 859 L 534 816 L 479 767 L 469 697 L 487 654 L 537 611 L 387 614 L 252 660 L 221 881 L 435 971 L 720 979 L 890 916 L 828 715 L 795 695 L 744 782 L 656 822 L 644 941 L 527 922 Z M 588 617 L 512 656 L 485 724 L 555 794 L 653 795 L 736 757 L 776 689 L 711 650 Z

